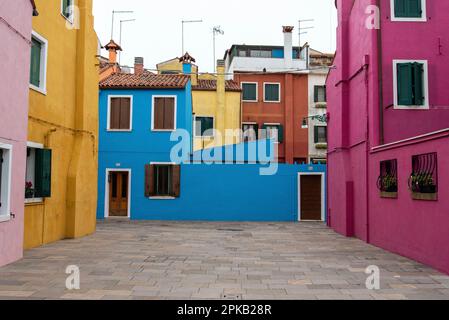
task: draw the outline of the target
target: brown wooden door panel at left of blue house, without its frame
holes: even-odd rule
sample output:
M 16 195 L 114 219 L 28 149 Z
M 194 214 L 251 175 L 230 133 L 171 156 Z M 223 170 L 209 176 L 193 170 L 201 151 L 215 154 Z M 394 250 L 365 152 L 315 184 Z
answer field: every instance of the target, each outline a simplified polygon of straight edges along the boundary
M 109 174 L 109 216 L 128 216 L 128 172 Z

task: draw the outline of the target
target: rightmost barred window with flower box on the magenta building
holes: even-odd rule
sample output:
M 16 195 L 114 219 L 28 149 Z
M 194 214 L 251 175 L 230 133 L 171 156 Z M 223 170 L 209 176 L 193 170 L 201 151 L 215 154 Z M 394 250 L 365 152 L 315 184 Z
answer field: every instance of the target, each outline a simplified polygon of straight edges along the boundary
M 412 157 L 413 171 L 409 178 L 409 188 L 415 200 L 437 200 L 438 159 L 436 153 Z

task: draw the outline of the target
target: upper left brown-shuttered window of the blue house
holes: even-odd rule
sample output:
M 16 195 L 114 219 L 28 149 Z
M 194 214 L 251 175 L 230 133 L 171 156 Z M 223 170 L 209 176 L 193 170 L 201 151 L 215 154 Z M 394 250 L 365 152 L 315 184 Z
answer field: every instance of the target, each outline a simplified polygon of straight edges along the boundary
M 132 130 L 132 97 L 109 97 L 108 130 Z

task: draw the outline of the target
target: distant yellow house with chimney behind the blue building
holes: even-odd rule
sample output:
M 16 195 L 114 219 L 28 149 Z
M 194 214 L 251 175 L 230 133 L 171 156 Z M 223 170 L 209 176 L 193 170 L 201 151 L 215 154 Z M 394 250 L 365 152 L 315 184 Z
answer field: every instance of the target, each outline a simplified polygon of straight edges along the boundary
M 217 73 L 199 74 L 195 59 L 186 53 L 157 65 L 158 73 L 182 73 L 183 63 L 192 64 L 194 150 L 239 143 L 241 140 L 241 88 L 225 80 L 224 61 L 218 60 Z M 227 135 L 232 130 L 234 134 Z

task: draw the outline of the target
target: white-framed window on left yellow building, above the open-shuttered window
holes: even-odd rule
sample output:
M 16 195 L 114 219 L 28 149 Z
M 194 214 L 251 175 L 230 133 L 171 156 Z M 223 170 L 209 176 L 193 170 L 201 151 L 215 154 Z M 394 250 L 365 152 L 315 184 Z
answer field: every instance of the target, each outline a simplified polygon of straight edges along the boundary
M 31 37 L 30 88 L 46 94 L 48 42 L 33 31 Z

